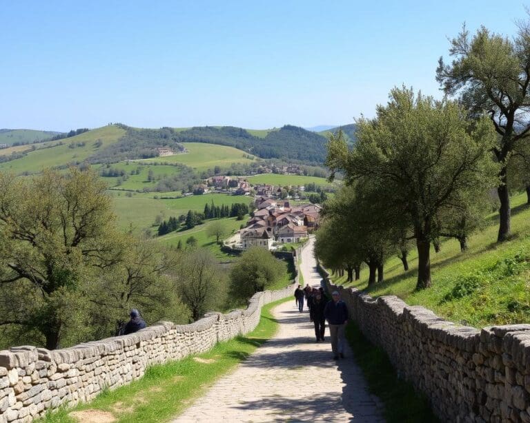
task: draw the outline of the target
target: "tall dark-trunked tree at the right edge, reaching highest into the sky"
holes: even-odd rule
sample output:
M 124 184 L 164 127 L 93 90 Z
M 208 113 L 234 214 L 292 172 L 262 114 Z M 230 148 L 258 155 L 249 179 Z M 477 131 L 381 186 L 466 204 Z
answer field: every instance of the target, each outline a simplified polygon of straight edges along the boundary
M 500 163 L 498 241 L 510 234 L 509 159 L 530 136 L 530 22 L 519 23 L 509 39 L 480 28 L 473 37 L 464 28 L 451 40 L 450 64 L 440 58 L 437 80 L 446 94 L 458 96 L 474 116 L 486 112 L 498 140 L 491 146 Z

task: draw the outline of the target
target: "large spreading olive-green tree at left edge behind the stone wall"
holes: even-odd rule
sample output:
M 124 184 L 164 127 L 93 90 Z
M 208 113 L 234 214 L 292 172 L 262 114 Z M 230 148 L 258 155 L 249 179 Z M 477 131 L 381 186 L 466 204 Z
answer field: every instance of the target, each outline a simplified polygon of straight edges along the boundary
M 75 168 L 0 173 L 0 326 L 37 331 L 48 349 L 87 329 L 87 283 L 123 255 L 105 190 L 95 172 Z

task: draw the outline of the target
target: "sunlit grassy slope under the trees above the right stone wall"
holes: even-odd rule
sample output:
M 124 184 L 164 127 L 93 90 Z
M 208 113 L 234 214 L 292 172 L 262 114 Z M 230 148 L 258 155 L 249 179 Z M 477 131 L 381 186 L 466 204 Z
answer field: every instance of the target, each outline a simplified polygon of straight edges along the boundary
M 397 295 L 409 305 L 423 305 L 453 322 L 475 327 L 530 320 L 530 208 L 526 194 L 512 197 L 513 236 L 497 244 L 498 215 L 469 238 L 469 249 L 460 253 L 456 240 L 446 240 L 441 251 L 431 251 L 432 287 L 415 291 L 418 256 L 409 254 L 411 269 L 404 272 L 398 258 L 385 264 L 385 281 L 367 288 L 368 271 L 355 287 L 372 296 Z M 333 277 L 332 277 L 333 279 Z M 337 279 L 341 283 L 343 280 Z

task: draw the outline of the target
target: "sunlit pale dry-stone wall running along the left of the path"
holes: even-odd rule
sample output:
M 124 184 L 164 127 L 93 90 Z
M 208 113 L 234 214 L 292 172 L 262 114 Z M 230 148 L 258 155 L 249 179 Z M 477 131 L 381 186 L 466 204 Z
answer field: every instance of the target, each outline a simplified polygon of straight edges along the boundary
M 208 313 L 192 324 L 158 322 L 130 335 L 55 351 L 0 351 L 0 423 L 31 422 L 48 409 L 92 400 L 105 388 L 141 378 L 153 364 L 202 353 L 248 333 L 257 326 L 262 306 L 292 296 L 296 284 L 258 292 L 245 310 Z

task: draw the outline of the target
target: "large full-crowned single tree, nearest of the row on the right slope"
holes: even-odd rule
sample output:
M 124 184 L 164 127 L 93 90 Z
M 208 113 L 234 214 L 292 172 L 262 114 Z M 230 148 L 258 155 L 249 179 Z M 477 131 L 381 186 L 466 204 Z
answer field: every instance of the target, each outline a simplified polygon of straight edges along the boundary
M 430 245 L 463 193 L 495 185 L 497 168 L 489 152 L 495 134 L 486 118 L 469 122 L 454 101 L 435 101 L 413 90 L 394 88 L 373 119 L 357 122 L 352 150 L 331 137 L 327 163 L 342 170 L 346 183 L 377 181 L 382 200 L 406 216 L 418 249 L 417 288 L 431 284 Z M 442 214 L 441 212 L 444 211 Z

